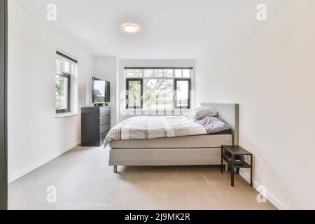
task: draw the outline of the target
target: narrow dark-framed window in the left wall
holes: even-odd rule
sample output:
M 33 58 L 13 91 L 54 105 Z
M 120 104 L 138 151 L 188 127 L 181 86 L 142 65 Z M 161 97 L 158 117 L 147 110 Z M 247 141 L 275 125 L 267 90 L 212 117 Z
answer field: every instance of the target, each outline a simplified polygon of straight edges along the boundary
M 61 52 L 56 55 L 56 113 L 71 112 L 71 88 L 77 61 Z

